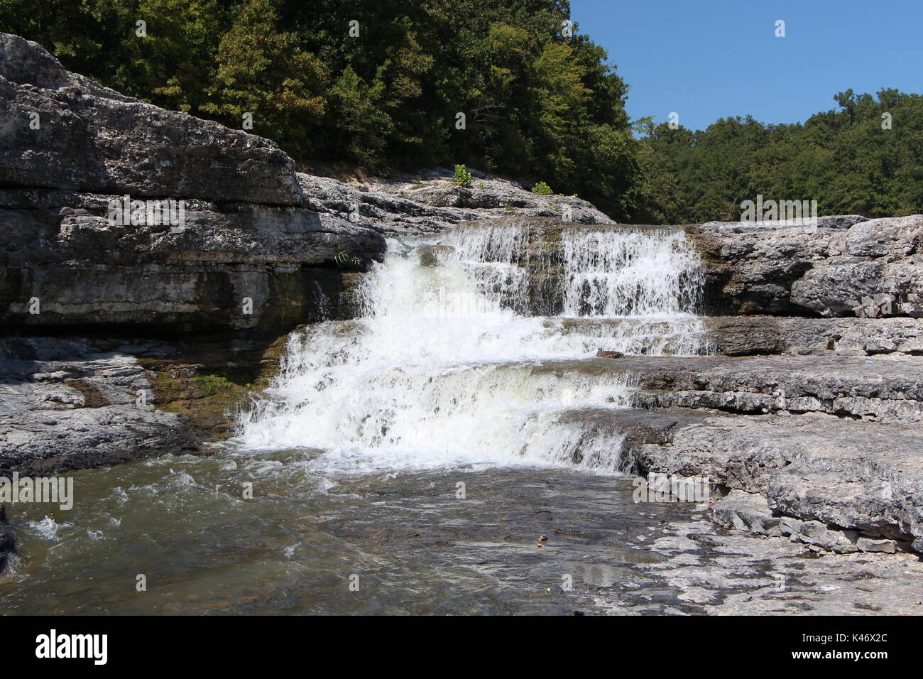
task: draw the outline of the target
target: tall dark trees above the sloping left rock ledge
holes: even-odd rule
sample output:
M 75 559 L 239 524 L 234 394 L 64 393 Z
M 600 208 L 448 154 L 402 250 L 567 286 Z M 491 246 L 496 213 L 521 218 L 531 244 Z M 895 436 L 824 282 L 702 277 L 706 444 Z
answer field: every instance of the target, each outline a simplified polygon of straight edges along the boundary
M 0 0 L 0 29 L 66 67 L 233 127 L 251 113 L 295 158 L 545 177 L 627 217 L 626 87 L 568 18 L 566 0 Z

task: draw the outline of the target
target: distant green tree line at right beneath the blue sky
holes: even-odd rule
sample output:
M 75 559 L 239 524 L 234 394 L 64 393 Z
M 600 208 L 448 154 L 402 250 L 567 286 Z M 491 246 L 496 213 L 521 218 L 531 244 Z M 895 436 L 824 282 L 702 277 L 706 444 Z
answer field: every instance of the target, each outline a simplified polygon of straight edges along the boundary
M 846 91 L 803 125 L 722 118 L 704 131 L 653 127 L 643 140 L 649 219 L 737 219 L 743 200 L 817 200 L 820 214 L 923 212 L 923 97 Z M 888 128 L 890 127 L 890 128 Z

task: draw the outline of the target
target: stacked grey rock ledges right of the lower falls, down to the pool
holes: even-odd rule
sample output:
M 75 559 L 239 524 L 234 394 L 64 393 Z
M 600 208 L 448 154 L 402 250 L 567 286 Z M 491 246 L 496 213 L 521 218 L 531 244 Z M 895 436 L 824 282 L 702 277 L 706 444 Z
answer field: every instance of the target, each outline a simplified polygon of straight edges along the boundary
M 923 551 L 916 357 L 626 356 L 542 370 L 624 374 L 632 409 L 567 418 L 619 441 L 626 471 L 705 477 L 765 510 L 738 511 L 737 493 L 715 505 L 725 526 L 828 552 Z

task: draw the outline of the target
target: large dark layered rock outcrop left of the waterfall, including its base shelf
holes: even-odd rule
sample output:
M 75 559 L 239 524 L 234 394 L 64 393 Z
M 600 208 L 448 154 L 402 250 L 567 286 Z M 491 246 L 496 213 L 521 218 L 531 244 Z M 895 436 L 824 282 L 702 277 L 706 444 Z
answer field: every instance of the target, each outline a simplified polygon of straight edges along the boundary
M 0 111 L 0 321 L 19 335 L 0 345 L 0 474 L 226 435 L 274 340 L 353 316 L 383 256 L 378 233 L 314 209 L 271 141 L 106 89 L 8 34 Z M 130 202 L 114 219 L 126 196 L 173 200 L 157 206 L 174 219 Z

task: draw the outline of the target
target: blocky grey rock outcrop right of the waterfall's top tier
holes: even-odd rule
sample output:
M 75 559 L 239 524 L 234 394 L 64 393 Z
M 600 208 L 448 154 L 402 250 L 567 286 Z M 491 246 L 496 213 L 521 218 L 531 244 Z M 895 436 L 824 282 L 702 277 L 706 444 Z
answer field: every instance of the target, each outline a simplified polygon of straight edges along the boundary
M 711 313 L 923 316 L 923 215 L 688 226 Z

